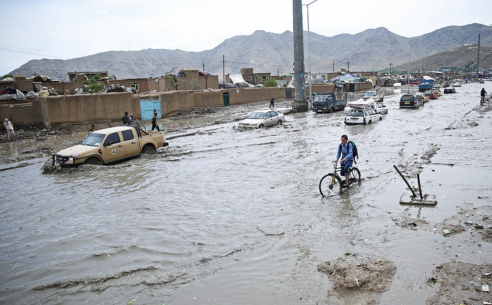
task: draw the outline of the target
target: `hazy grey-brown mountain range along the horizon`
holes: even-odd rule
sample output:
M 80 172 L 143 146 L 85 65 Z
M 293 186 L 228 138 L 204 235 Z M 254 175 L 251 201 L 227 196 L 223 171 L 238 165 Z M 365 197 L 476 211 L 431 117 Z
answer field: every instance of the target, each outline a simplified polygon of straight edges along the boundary
M 422 27 L 421 25 L 419 25 Z M 311 72 L 331 72 L 347 68 L 351 71 L 370 71 L 387 68 L 419 59 L 464 44 L 492 45 L 492 27 L 481 24 L 449 26 L 417 37 L 403 37 L 385 28 L 369 29 L 355 35 L 339 34 L 332 37 L 309 32 Z M 305 69 L 308 71 L 308 33 L 304 32 Z M 225 73 L 237 74 L 252 67 L 254 72 L 272 75 L 289 74 L 293 68 L 293 33 L 281 34 L 256 30 L 251 35 L 226 39 L 212 50 L 186 52 L 182 50 L 145 49 L 140 51 L 108 51 L 70 60 L 32 60 L 13 70 L 13 75 L 36 74 L 62 80 L 67 72 L 109 71 L 118 78 L 146 78 L 163 75 L 173 67 L 194 68 L 221 76 L 222 57 Z M 410 53 L 410 54 L 409 54 Z M 461 64 L 449 61 L 450 66 Z M 427 67 L 426 67 L 427 68 Z M 417 68 L 418 70 L 418 68 Z M 221 79 L 222 77 L 219 77 Z

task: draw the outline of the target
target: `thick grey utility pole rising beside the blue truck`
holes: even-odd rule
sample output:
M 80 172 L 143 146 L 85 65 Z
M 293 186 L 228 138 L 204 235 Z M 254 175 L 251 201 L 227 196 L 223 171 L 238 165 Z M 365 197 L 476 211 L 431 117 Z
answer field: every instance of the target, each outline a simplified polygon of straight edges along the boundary
M 303 2 L 302 0 L 293 0 L 292 6 L 294 18 L 294 102 L 292 109 L 305 112 L 308 105 L 304 79 Z

